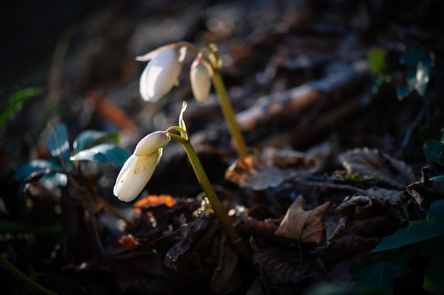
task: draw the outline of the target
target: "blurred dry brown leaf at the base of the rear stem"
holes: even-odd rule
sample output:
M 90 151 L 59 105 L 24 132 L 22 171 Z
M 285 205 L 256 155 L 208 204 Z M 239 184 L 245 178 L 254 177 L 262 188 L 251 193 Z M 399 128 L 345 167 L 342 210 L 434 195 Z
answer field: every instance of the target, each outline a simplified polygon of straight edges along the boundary
M 266 147 L 235 161 L 226 170 L 225 178 L 240 187 L 265 190 L 277 187 L 295 175 L 309 173 L 312 163 L 298 151 Z

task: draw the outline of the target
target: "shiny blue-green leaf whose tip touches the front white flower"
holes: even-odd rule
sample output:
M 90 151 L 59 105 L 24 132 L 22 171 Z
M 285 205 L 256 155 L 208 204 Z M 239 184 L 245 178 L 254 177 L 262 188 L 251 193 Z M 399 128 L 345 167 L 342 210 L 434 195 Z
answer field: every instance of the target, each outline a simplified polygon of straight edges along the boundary
M 99 144 L 90 149 L 84 149 L 71 156 L 71 161 L 96 161 L 100 163 L 114 163 L 121 167 L 131 156 L 131 153 L 116 144 Z

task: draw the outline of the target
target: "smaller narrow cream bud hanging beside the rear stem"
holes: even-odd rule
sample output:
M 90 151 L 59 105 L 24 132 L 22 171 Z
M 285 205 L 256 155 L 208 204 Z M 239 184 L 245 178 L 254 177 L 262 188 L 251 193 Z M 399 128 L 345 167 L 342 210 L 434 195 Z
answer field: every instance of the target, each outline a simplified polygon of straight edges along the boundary
M 203 103 L 211 90 L 211 72 L 209 68 L 198 57 L 194 59 L 189 72 L 189 79 L 192 84 L 194 98 Z

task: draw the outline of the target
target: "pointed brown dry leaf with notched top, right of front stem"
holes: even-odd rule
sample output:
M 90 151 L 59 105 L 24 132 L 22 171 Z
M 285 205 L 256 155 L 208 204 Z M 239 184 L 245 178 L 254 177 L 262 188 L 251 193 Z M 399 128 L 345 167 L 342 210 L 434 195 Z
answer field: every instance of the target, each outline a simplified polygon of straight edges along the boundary
M 323 236 L 321 219 L 324 212 L 331 206 L 331 202 L 321 204 L 310 211 L 304 210 L 304 204 L 304 197 L 299 195 L 287 210 L 287 214 L 274 234 L 295 238 L 305 243 L 321 243 Z

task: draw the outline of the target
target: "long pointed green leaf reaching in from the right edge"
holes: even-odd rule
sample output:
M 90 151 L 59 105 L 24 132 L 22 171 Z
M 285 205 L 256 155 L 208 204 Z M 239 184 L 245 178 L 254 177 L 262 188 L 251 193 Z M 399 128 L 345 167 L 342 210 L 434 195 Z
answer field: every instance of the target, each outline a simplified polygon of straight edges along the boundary
M 427 219 L 410 221 L 409 226 L 399 229 L 392 236 L 382 239 L 373 252 L 390 250 L 410 245 L 444 234 L 444 199 L 431 204 Z

